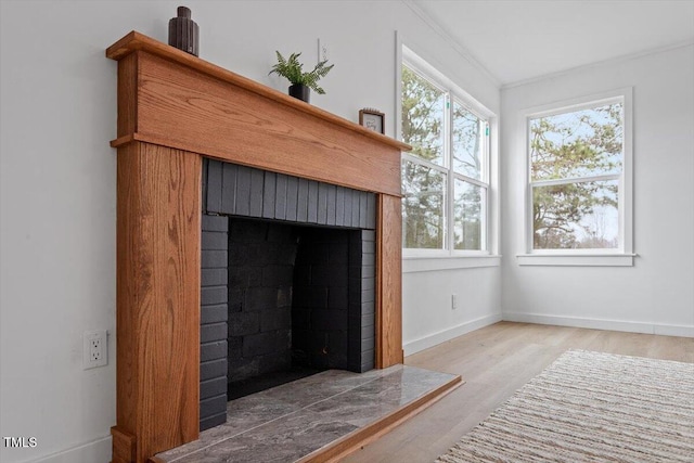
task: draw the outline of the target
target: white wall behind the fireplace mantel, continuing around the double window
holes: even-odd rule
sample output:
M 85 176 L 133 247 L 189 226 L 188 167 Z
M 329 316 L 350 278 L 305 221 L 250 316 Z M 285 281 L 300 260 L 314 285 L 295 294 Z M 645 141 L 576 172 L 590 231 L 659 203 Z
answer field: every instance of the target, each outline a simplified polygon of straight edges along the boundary
M 83 331 L 115 333 L 116 63 L 104 50 L 132 29 L 166 41 L 180 3 L 0 2 L 0 435 L 38 441 L 0 441 L 3 462 L 111 458 L 114 336 L 107 366 L 81 364 Z M 381 108 L 388 134 L 395 30 L 499 111 L 498 89 L 399 1 L 183 3 L 201 27 L 201 57 L 278 89 L 287 83 L 267 76 L 274 50 L 303 50 L 311 63 L 320 38 L 336 66 L 312 103 L 355 121 L 359 108 Z M 404 285 L 412 350 L 500 312 L 498 267 L 413 273 Z M 466 300 L 457 312 L 452 293 Z

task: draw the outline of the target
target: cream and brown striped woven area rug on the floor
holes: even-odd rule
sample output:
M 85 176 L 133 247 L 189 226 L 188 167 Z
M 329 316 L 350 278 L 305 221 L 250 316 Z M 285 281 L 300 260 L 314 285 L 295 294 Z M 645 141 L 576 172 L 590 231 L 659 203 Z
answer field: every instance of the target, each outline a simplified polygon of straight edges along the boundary
M 569 350 L 439 463 L 694 462 L 694 363 Z

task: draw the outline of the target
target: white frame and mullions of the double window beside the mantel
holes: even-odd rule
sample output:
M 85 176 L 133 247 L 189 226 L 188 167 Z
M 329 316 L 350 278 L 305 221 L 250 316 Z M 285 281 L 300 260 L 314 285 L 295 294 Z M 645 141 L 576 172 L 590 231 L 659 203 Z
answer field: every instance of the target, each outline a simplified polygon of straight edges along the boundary
M 406 260 L 410 259 L 411 262 L 406 262 L 404 270 L 408 271 L 427 271 L 427 270 L 440 270 L 440 269 L 453 269 L 453 268 L 467 268 L 467 267 L 488 267 L 498 266 L 499 256 L 497 252 L 498 244 L 496 240 L 496 222 L 497 222 L 497 207 L 496 198 L 496 180 L 497 173 L 497 159 L 496 159 L 496 146 L 497 146 L 497 133 L 498 121 L 496 115 L 487 110 L 484 105 L 477 102 L 468 93 L 463 91 L 452 80 L 447 78 L 441 72 L 428 64 L 416 53 L 414 53 L 408 47 L 401 44 L 399 47 L 401 55 L 398 57 L 397 67 L 397 108 L 396 108 L 396 133 L 399 140 L 402 140 L 402 126 L 401 126 L 401 73 L 402 65 L 404 64 L 422 77 L 427 79 L 434 86 L 440 88 L 447 93 L 447 101 L 450 103 L 447 108 L 446 123 L 450 123 L 450 117 L 453 112 L 453 102 L 462 105 L 466 111 L 487 123 L 489 128 L 489 134 L 485 137 L 485 152 L 486 159 L 484 162 L 484 172 L 481 173 L 483 180 L 473 179 L 461 173 L 457 173 L 453 170 L 452 163 L 452 130 L 449 130 L 448 137 L 445 141 L 447 165 L 446 167 L 428 163 L 415 155 L 402 153 L 402 160 L 408 160 L 419 165 L 424 165 L 428 168 L 434 168 L 446 175 L 446 197 L 445 197 L 445 221 L 446 221 L 446 243 L 444 249 L 422 249 L 422 248 L 402 248 L 402 255 Z M 465 182 L 478 185 L 483 188 L 483 194 L 485 201 L 483 202 L 484 220 L 481 226 L 481 241 L 484 243 L 483 249 L 454 249 L 454 222 L 453 208 L 453 183 L 454 180 L 463 180 Z M 490 257 L 492 259 L 490 259 Z M 436 261 L 425 262 L 423 259 L 435 259 Z M 414 261 L 416 260 L 416 261 Z

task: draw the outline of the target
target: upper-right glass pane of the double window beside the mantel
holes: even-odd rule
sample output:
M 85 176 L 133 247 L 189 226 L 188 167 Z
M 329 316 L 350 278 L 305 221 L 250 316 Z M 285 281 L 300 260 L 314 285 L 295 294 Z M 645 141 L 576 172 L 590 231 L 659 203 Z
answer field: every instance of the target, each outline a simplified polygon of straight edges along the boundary
M 453 102 L 453 169 L 458 173 L 481 180 L 486 124 L 465 107 Z

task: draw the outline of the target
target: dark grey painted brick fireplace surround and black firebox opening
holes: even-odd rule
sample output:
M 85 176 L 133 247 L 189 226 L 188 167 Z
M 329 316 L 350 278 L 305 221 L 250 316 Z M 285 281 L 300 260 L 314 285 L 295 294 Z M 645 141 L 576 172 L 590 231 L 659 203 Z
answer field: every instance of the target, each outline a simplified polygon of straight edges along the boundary
M 201 430 L 227 387 L 292 366 L 374 366 L 375 195 L 203 164 Z

